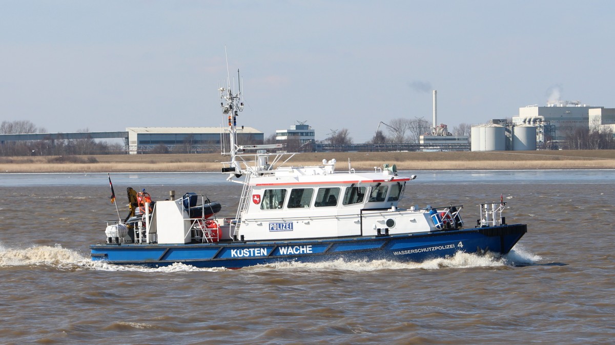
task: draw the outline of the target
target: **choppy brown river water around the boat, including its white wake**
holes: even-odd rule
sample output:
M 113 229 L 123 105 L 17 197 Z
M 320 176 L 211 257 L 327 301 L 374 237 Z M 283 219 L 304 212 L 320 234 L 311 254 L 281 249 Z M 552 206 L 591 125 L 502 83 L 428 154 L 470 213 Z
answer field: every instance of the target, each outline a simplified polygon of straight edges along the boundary
M 613 172 L 418 175 L 404 206 L 464 204 L 471 225 L 503 194 L 529 232 L 503 258 L 122 267 L 89 260 L 117 219 L 106 174 L 2 175 L 0 343 L 613 343 Z M 218 174 L 130 176 L 112 175 L 120 205 L 125 187 L 207 193 L 227 215 L 239 200 Z

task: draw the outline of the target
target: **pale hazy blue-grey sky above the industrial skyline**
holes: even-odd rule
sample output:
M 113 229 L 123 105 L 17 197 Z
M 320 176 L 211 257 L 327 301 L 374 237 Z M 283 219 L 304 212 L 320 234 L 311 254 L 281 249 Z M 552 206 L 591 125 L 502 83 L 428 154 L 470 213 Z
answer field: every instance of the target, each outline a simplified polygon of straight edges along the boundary
M 0 0 L 0 122 L 50 132 L 307 121 L 354 142 L 380 121 L 483 123 L 549 95 L 615 107 L 615 1 Z

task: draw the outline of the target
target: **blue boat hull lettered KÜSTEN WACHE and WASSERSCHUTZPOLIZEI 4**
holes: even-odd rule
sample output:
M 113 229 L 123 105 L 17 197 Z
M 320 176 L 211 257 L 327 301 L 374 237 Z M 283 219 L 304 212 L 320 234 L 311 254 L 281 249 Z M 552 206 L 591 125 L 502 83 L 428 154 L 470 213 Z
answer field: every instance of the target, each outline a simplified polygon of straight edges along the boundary
M 525 224 L 516 224 L 413 235 L 203 244 L 95 244 L 90 249 L 95 261 L 151 267 L 180 262 L 199 268 L 242 268 L 338 258 L 421 262 L 452 256 L 458 251 L 507 254 L 526 232 Z

